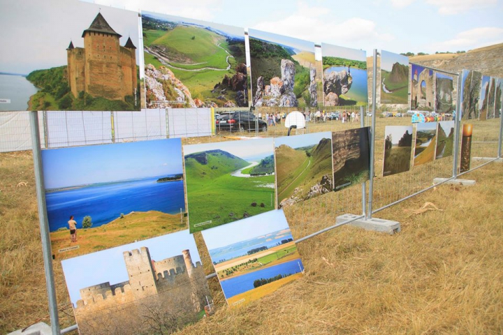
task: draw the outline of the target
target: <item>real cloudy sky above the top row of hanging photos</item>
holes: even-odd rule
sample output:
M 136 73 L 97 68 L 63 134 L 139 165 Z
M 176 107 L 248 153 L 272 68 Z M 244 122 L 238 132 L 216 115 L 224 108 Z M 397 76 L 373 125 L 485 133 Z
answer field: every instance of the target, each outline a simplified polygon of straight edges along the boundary
M 367 51 L 472 50 L 503 42 L 503 0 L 96 0 Z

